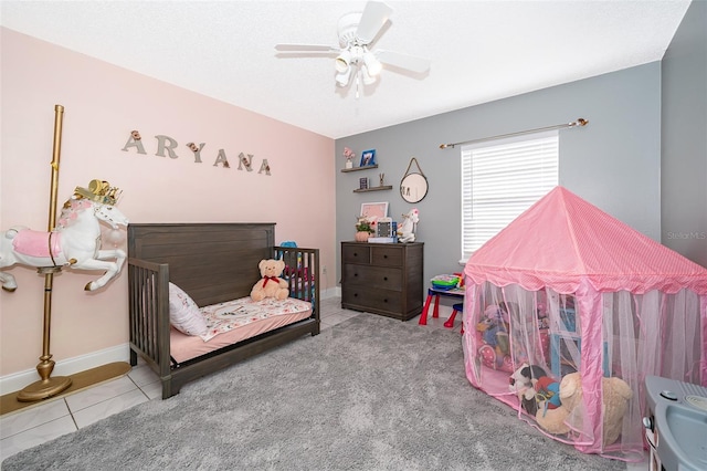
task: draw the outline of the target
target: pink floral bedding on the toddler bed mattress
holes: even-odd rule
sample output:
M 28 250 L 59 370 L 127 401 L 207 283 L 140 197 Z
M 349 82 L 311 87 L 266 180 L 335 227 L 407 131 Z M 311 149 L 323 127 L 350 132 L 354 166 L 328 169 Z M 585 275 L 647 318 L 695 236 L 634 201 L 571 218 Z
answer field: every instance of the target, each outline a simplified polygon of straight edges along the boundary
M 305 320 L 312 315 L 312 303 L 288 297 L 283 301 L 250 297 L 201 307 L 209 332 L 189 336 L 170 329 L 170 354 L 178 363 L 208 354 L 228 345 Z

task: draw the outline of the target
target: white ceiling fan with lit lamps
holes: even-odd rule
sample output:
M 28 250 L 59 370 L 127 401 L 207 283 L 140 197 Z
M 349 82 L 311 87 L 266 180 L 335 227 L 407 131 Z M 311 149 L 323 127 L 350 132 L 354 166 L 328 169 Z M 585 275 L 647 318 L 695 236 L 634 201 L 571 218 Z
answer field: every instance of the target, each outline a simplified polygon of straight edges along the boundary
M 369 1 L 362 12 L 347 13 L 339 19 L 337 31 L 339 48 L 317 44 L 276 44 L 275 50 L 285 53 L 314 53 L 336 55 L 336 83 L 346 87 L 355 78 L 358 86 L 371 85 L 383 65 L 422 74 L 430 69 L 428 59 L 400 52 L 372 50 L 371 43 L 388 22 L 392 9 L 381 1 Z

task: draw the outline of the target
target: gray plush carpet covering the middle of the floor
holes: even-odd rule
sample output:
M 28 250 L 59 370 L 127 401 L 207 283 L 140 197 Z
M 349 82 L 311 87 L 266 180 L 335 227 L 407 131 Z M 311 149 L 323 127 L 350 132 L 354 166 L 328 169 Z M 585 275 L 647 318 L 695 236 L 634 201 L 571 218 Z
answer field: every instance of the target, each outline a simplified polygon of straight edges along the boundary
M 362 314 L 2 470 L 612 470 L 471 387 L 457 333 Z

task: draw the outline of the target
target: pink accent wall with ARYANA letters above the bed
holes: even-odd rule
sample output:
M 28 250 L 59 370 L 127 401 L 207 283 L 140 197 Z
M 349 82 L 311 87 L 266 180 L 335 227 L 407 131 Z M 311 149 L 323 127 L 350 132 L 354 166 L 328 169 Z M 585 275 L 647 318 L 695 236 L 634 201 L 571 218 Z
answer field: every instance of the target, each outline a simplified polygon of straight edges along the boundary
M 60 104 L 60 207 L 74 187 L 103 179 L 123 189 L 118 209 L 130 222 L 276 222 L 276 242 L 319 248 L 323 266 L 334 268 L 333 139 L 6 28 L 0 33 L 0 230 L 48 227 Z M 133 129 L 146 155 L 122 150 Z M 178 158 L 155 155 L 156 135 L 179 143 Z M 205 143 L 201 164 L 186 146 L 191 142 Z M 231 168 L 213 166 L 219 149 Z M 253 171 L 238 169 L 241 153 L 254 156 Z M 271 176 L 258 175 L 263 158 Z M 336 286 L 335 272 L 321 279 L 323 289 Z M 25 266 L 10 273 L 19 287 L 0 293 L 0 377 L 34 368 L 42 355 L 44 278 Z M 66 270 L 54 278 L 50 352 L 57 364 L 128 342 L 127 270 L 85 292 L 99 274 Z

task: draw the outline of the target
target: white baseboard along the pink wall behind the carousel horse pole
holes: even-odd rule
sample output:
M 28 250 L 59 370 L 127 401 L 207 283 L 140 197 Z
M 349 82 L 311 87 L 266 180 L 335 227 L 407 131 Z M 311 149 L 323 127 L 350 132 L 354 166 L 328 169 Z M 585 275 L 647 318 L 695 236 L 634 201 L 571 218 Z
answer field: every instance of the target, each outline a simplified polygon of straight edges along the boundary
M 129 358 L 130 347 L 128 346 L 128 344 L 123 344 L 98 352 L 92 352 L 87 355 L 82 355 L 74 358 L 64 360 L 54 359 L 54 362 L 56 362 L 56 365 L 54 365 L 52 377 L 73 375 L 75 373 L 85 371 L 86 369 L 95 368 L 108 363 L 129 362 Z M 25 386 L 29 386 L 40 379 L 41 378 L 39 373 L 36 373 L 36 368 L 2 376 L 0 377 L 0 394 L 6 395 L 19 391 Z

